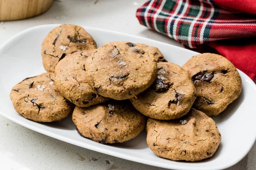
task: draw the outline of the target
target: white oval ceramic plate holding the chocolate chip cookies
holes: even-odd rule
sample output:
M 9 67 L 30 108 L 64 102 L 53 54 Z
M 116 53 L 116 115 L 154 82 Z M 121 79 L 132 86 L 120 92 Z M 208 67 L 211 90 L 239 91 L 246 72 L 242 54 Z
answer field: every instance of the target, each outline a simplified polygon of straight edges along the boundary
M 256 139 L 256 85 L 239 71 L 243 90 L 239 98 L 218 116 L 213 117 L 222 135 L 215 155 L 199 162 L 171 161 L 156 156 L 146 143 L 146 133 L 122 144 L 99 144 L 76 132 L 71 117 L 61 122 L 37 123 L 24 119 L 12 106 L 9 92 L 26 77 L 44 73 L 41 43 L 49 31 L 58 25 L 29 28 L 12 37 L 0 47 L 0 114 L 29 129 L 97 152 L 130 161 L 175 170 L 220 170 L 238 163 L 249 152 Z M 158 47 L 169 62 L 183 65 L 198 54 L 184 48 L 133 35 L 98 28 L 84 27 L 98 46 L 111 41 L 141 42 Z

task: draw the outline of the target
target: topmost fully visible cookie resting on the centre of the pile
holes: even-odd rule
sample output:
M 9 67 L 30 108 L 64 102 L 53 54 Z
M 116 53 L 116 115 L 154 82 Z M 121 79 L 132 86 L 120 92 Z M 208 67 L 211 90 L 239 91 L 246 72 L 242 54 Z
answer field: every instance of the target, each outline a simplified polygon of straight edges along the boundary
M 130 99 L 157 77 L 157 62 L 131 42 L 109 42 L 91 54 L 85 64 L 87 82 L 104 97 Z

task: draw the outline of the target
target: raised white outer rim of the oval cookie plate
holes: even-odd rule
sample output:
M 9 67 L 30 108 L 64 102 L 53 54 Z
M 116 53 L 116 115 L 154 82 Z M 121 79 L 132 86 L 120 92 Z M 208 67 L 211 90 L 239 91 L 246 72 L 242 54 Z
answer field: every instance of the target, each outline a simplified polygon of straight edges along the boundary
M 19 33 L 13 35 L 11 38 L 9 38 L 5 42 L 3 42 L 3 44 L 0 45 L 0 51 L 2 51 L 10 42 L 15 40 L 17 37 L 19 37 L 19 36 L 21 36 L 23 34 L 29 33 L 29 31 L 32 31 L 32 30 L 37 29 L 37 28 L 44 28 L 44 27 L 47 27 L 47 26 L 50 26 L 50 27 L 53 28 L 53 27 L 56 27 L 56 26 L 59 26 L 59 25 L 61 25 L 61 24 L 45 24 L 45 25 L 33 26 L 33 27 L 27 28 L 27 29 L 25 29 L 23 31 L 20 31 Z M 113 33 L 113 34 L 121 34 L 121 35 L 129 36 L 129 37 L 136 37 L 136 38 L 140 38 L 140 39 L 143 39 L 143 40 L 149 40 L 149 41 L 157 42 L 157 43 L 160 43 L 160 44 L 171 45 L 172 48 L 177 48 L 177 49 L 191 51 L 191 50 L 186 49 L 186 48 L 181 48 L 179 46 L 168 44 L 166 42 L 160 42 L 160 41 L 157 41 L 157 40 L 151 40 L 151 39 L 146 38 L 146 37 L 140 37 L 140 36 L 136 36 L 136 35 L 126 34 L 126 33 L 118 32 L 118 31 L 106 30 L 106 29 L 102 29 L 102 28 L 94 28 L 94 27 L 88 27 L 88 26 L 81 26 L 81 27 L 83 27 L 85 29 L 89 28 L 89 29 L 94 29 L 96 31 L 104 31 L 104 32 L 110 32 L 110 33 Z M 193 52 L 195 53 L 195 51 L 193 51 Z M 249 83 L 251 85 L 253 85 L 254 88 L 256 89 L 256 84 L 253 82 L 253 80 L 250 79 L 250 77 L 248 77 L 246 74 L 244 74 L 244 72 L 240 71 L 239 69 L 237 69 L 237 70 L 239 71 L 239 74 L 243 74 L 243 76 L 245 76 L 247 79 L 249 79 Z M 121 159 L 126 159 L 126 160 L 129 160 L 129 161 L 134 161 L 134 162 L 138 162 L 138 163 L 142 163 L 142 164 L 148 164 L 148 165 L 151 165 L 151 166 L 154 166 L 154 167 L 170 168 L 170 167 L 165 166 L 166 164 L 161 165 L 159 163 L 159 164 L 156 165 L 156 164 L 151 163 L 151 161 L 148 161 L 146 159 L 142 159 L 142 158 L 134 159 L 130 155 L 126 155 L 124 153 L 120 153 L 120 152 L 116 152 L 116 151 L 111 150 L 111 153 L 114 153 L 114 155 L 113 155 L 113 154 L 109 153 L 109 149 L 101 148 L 101 147 L 98 147 L 98 146 L 93 146 L 93 145 L 90 145 L 90 144 L 84 145 L 85 144 L 84 142 L 79 142 L 79 141 L 76 141 L 75 139 L 67 138 L 67 137 L 59 135 L 57 133 L 53 133 L 51 131 L 44 130 L 44 129 L 40 128 L 40 127 L 36 127 L 36 126 L 30 125 L 30 124 L 27 124 L 26 122 L 22 122 L 22 121 L 20 122 L 17 118 L 15 118 L 13 116 L 9 116 L 6 113 L 2 113 L 1 111 L 0 111 L 0 115 L 2 115 L 3 117 L 5 117 L 7 119 L 10 119 L 11 121 L 13 121 L 13 122 L 15 122 L 15 123 L 17 123 L 19 125 L 22 125 L 22 126 L 24 126 L 26 128 L 34 130 L 34 131 L 36 131 L 38 133 L 42 133 L 42 134 L 44 134 L 46 136 L 50 136 L 52 138 L 61 140 L 63 142 L 67 142 L 69 144 L 74 144 L 74 145 L 79 146 L 79 147 L 83 147 L 83 148 L 86 148 L 86 149 L 89 149 L 89 150 L 94 150 L 96 152 L 104 153 L 104 154 L 111 155 L 111 156 L 115 156 L 115 157 L 118 157 L 118 158 L 121 158 Z M 251 142 L 250 147 L 248 147 L 247 151 L 245 152 L 245 154 L 243 156 L 240 157 L 240 159 L 237 159 L 236 161 L 233 161 L 232 163 L 226 164 L 224 166 L 218 166 L 217 165 L 215 167 L 210 167 L 210 168 L 207 168 L 207 170 L 222 170 L 222 169 L 225 169 L 225 168 L 228 168 L 228 167 L 231 167 L 231 166 L 237 164 L 239 161 L 241 161 L 249 153 L 249 151 L 251 150 L 251 148 L 253 147 L 253 144 L 255 142 L 256 142 L 256 134 L 254 136 L 254 141 Z M 189 167 L 189 164 L 188 165 L 183 165 L 182 167 L 180 167 L 180 165 L 172 164 L 171 168 L 175 168 L 177 170 L 185 170 L 185 169 L 188 169 L 188 170 L 198 170 L 198 167 Z

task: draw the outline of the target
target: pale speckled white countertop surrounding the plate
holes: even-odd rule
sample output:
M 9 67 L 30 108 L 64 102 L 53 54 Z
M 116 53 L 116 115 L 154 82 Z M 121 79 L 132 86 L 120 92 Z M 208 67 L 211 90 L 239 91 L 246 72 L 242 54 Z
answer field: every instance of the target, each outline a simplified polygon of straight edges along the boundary
M 69 23 L 119 31 L 182 46 L 175 40 L 139 24 L 135 12 L 145 1 L 57 0 L 49 11 L 38 17 L 0 23 L 0 44 L 32 26 Z M 85 160 L 79 160 L 79 155 Z M 98 160 L 90 161 L 92 157 Z M 111 169 L 111 165 L 106 164 L 106 159 L 114 162 L 116 167 L 112 169 L 119 167 L 120 170 L 163 170 L 68 144 L 0 116 L 0 170 Z M 256 170 L 256 144 L 244 159 L 228 170 Z

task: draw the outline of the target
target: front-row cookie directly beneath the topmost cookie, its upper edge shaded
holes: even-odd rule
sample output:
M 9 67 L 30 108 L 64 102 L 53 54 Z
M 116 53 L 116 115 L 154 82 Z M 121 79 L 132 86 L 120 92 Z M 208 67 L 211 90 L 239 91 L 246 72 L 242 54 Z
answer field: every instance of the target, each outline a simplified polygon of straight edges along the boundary
M 72 119 L 81 136 L 102 144 L 128 141 L 145 127 L 145 116 L 128 100 L 110 100 L 89 108 L 76 106 Z

